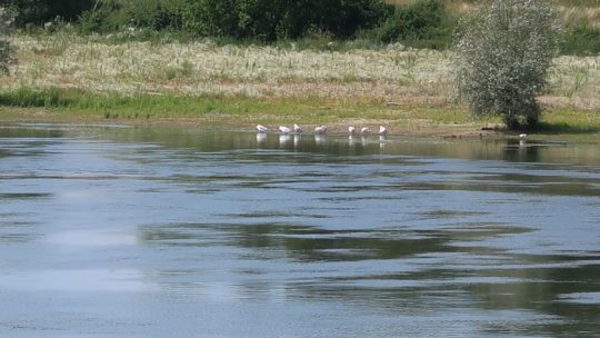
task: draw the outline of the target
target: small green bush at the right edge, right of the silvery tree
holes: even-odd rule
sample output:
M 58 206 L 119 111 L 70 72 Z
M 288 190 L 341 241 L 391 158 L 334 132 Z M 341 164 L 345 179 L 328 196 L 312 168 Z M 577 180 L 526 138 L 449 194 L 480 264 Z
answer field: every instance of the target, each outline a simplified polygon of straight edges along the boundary
M 600 53 L 600 30 L 584 22 L 574 24 L 562 37 L 560 51 L 578 56 Z

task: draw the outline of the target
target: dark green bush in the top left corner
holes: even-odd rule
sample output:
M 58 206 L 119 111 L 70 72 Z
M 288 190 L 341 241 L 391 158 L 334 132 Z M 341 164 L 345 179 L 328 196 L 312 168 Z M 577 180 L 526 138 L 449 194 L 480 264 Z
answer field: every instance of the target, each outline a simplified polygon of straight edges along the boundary
M 71 21 L 94 3 L 94 0 L 0 0 L 0 6 L 16 11 L 17 27 L 43 24 L 57 17 Z

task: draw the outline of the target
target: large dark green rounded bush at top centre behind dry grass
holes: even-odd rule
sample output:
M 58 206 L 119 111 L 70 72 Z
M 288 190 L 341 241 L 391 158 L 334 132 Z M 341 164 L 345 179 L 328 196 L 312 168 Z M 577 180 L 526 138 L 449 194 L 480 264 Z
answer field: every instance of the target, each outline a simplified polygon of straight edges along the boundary
M 183 26 L 200 36 L 298 39 L 319 32 L 353 37 L 386 12 L 380 0 L 187 0 Z

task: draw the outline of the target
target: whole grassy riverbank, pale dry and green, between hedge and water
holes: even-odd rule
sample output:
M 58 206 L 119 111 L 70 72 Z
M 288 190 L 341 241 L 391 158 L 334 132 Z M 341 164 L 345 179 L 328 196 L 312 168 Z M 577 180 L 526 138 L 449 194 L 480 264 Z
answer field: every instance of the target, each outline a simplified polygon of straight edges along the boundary
M 443 136 L 479 136 L 500 123 L 473 120 L 454 101 L 449 51 L 114 43 L 64 32 L 11 43 L 18 63 L 0 78 L 4 121 L 299 123 L 334 132 L 386 125 Z M 600 57 L 557 58 L 548 81 L 540 131 L 600 139 Z

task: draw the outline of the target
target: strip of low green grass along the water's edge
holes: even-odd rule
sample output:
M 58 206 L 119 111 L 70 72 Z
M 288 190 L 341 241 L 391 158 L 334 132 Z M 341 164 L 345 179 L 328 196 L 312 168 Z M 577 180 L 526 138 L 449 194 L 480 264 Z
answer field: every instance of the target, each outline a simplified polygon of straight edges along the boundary
M 344 132 L 347 125 L 386 123 L 396 133 L 478 135 L 482 127 L 499 126 L 498 118 L 473 120 L 463 107 L 398 107 L 381 101 L 246 96 L 92 93 L 73 89 L 21 88 L 0 92 L 1 121 L 98 121 L 114 123 L 193 123 L 240 126 L 256 123 L 329 125 Z M 502 128 L 497 129 L 507 132 Z M 571 141 L 600 142 L 597 111 L 552 110 L 530 133 Z

